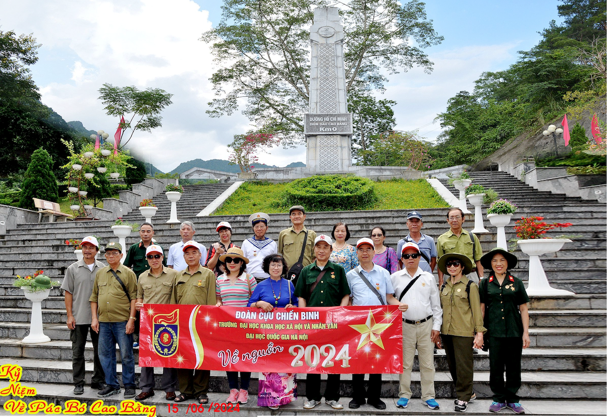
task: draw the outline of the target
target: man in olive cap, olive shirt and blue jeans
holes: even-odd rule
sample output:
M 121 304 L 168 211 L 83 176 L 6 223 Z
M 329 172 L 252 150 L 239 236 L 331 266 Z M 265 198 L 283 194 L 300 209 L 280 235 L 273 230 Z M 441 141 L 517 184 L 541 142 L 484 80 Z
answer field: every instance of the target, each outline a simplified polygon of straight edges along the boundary
M 109 242 L 106 246 L 107 267 L 101 268 L 93 282 L 90 295 L 90 327 L 99 333 L 99 360 L 106 375 L 107 387 L 97 393 L 107 397 L 120 393 L 116 375 L 116 344 L 122 358 L 124 398 L 135 396 L 135 361 L 133 331 L 135 330 L 135 299 L 137 278 L 132 270 L 120 263 L 122 245 Z

